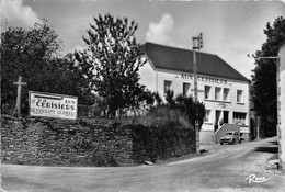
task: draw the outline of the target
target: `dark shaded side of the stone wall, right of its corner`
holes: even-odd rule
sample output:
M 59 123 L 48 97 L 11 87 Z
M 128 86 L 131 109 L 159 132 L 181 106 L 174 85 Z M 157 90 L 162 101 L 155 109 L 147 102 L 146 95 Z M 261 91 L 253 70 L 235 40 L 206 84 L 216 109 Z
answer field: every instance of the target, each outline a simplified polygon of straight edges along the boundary
M 170 122 L 162 127 L 132 125 L 133 155 L 136 162 L 179 157 L 195 153 L 195 133 Z

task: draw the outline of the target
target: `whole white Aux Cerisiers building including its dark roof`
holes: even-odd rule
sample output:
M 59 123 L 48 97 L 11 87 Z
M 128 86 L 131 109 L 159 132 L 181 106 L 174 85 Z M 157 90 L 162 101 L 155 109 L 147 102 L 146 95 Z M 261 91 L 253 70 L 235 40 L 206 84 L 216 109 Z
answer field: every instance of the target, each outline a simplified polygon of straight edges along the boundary
M 174 95 L 194 94 L 193 52 L 146 43 L 140 68 L 140 83 L 164 97 L 168 90 Z M 201 131 L 201 143 L 212 143 L 214 126 L 223 123 L 240 125 L 246 139 L 250 134 L 249 80 L 220 57 L 196 52 L 198 101 L 206 106 Z

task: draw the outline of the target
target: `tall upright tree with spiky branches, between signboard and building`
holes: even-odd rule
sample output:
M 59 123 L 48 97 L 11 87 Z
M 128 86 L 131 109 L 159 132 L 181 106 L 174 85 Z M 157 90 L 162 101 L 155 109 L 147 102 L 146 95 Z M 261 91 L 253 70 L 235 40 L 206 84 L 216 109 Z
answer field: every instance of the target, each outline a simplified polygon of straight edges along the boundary
M 78 68 L 90 82 L 107 108 L 107 114 L 116 110 L 135 108 L 145 87 L 139 84 L 138 69 L 144 65 L 140 44 L 134 36 L 138 24 L 127 18 L 114 19 L 112 15 L 94 18 L 90 24 L 88 38 L 83 37 L 88 48 L 78 52 Z

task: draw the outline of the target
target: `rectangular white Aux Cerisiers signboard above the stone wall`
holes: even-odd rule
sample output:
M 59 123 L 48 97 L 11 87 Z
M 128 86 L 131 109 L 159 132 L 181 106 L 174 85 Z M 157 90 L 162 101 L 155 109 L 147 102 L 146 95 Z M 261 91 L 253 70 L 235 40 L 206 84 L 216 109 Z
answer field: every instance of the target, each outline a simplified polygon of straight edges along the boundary
M 77 97 L 30 91 L 29 101 L 31 116 L 77 120 Z

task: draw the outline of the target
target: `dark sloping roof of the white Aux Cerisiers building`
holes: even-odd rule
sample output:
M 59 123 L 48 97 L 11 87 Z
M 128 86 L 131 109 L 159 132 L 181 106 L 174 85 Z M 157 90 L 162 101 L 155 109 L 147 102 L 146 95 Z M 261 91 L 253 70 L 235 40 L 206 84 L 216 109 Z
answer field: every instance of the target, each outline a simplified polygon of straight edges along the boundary
M 193 50 L 145 43 L 142 52 L 156 68 L 193 72 Z M 249 81 L 217 55 L 196 52 L 197 74 Z

